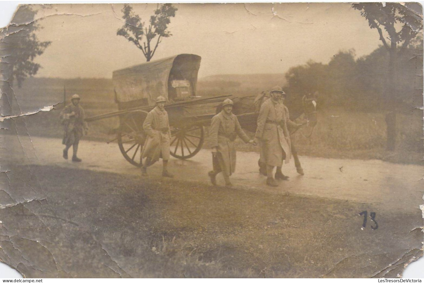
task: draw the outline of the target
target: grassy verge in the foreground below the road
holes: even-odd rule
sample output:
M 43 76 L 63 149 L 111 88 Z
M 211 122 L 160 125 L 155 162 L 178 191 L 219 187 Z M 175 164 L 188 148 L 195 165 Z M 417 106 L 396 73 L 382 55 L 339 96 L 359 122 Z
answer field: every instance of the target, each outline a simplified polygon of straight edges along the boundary
M 378 230 L 361 230 L 358 213 L 373 204 L 57 166 L 11 171 L 48 196 L 0 210 L 4 235 L 17 235 L 0 252 L 22 252 L 9 264 L 27 277 L 390 278 L 422 253 L 420 214 L 389 207 L 375 210 Z

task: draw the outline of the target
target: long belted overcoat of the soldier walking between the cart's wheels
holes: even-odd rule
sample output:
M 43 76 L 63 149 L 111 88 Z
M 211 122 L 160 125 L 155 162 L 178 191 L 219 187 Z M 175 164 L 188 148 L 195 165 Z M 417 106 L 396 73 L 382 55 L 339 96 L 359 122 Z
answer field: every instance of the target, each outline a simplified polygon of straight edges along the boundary
M 150 157 L 151 164 L 169 159 L 171 131 L 169 128 L 168 113 L 157 106 L 148 114 L 143 123 L 144 132 L 147 134 L 141 158 Z

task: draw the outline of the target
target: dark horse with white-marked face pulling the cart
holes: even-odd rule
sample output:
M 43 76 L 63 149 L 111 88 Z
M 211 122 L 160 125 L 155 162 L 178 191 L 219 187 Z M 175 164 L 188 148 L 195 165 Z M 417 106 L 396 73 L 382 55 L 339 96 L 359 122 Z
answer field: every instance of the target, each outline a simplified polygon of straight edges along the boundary
M 304 115 L 304 118 L 307 120 L 307 122 L 304 124 L 311 126 L 313 130 L 318 121 L 316 102 L 317 96 L 318 92 L 307 93 L 306 95 L 303 95 L 301 99 L 299 96 L 290 97 L 290 95 L 287 95 L 284 104 L 289 109 L 290 120 L 296 120 L 301 115 Z M 237 118 L 243 129 L 249 132 L 256 132 L 259 109 L 262 103 L 269 97 L 270 92 L 266 90 L 262 91 L 258 95 L 233 98 L 233 114 L 237 115 Z M 222 106 L 218 105 L 218 107 L 216 108 L 216 113 L 219 113 L 221 109 Z M 292 132 L 290 132 L 290 134 L 294 134 L 294 132 L 296 132 L 297 130 L 298 129 L 293 130 Z M 291 152 L 295 162 L 296 171 L 298 172 L 298 174 L 304 175 L 304 171 L 300 164 L 296 147 L 293 144 L 293 140 L 291 140 Z M 259 172 L 263 175 L 266 175 L 266 164 L 258 161 L 258 165 Z

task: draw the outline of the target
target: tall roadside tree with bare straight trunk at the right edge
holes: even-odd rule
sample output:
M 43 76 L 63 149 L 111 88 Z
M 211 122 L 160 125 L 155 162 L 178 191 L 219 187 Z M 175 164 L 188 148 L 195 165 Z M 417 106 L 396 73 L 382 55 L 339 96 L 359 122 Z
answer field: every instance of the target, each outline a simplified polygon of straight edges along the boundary
M 410 44 L 411 40 L 422 31 L 422 11 L 418 3 L 357 3 L 352 7 L 361 11 L 361 16 L 368 20 L 371 29 L 378 31 L 379 39 L 388 52 L 388 72 L 385 89 L 385 103 L 388 105 L 386 114 L 387 149 L 394 150 L 396 145 L 396 104 L 398 97 L 398 80 L 396 69 L 398 59 Z M 383 29 L 386 36 L 383 34 Z M 386 41 L 386 39 L 388 39 Z

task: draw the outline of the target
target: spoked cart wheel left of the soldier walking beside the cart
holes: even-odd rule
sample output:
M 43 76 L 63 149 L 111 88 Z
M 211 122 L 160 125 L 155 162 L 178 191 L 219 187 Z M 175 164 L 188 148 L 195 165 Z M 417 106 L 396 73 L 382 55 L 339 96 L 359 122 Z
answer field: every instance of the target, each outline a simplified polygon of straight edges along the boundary
M 143 122 L 147 112 L 137 110 L 120 118 L 120 128 L 117 133 L 119 149 L 129 163 L 137 167 L 143 165 L 141 151 L 146 135 L 143 131 Z

